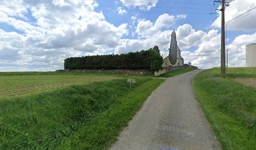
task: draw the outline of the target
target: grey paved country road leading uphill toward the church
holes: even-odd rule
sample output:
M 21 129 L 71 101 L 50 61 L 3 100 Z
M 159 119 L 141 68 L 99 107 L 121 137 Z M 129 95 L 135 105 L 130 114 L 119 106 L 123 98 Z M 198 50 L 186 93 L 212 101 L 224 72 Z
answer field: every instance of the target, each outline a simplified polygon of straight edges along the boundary
M 166 79 L 110 149 L 220 149 L 191 81 L 200 70 Z

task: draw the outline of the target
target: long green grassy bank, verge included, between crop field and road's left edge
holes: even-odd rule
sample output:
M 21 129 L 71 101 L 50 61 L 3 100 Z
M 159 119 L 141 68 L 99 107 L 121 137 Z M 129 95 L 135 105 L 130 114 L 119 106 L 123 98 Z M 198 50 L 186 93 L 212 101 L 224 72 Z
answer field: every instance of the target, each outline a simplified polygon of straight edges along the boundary
M 107 149 L 162 79 L 75 85 L 0 101 L 0 149 Z

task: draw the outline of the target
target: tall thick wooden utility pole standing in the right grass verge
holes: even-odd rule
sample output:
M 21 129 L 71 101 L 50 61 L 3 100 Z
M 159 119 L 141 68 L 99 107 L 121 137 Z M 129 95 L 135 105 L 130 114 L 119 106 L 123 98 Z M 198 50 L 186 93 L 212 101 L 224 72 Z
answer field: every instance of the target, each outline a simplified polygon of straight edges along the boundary
M 220 70 L 221 76 L 226 76 L 226 60 L 225 60 L 225 0 L 221 1 L 221 56 Z

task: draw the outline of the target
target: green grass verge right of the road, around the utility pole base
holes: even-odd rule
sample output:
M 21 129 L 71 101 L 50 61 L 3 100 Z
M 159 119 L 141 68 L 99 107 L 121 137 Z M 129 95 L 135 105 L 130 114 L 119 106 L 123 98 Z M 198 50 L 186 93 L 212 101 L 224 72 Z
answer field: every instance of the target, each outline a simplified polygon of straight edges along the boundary
M 256 89 L 234 78 L 255 78 L 255 68 L 203 71 L 193 80 L 196 99 L 223 149 L 256 149 Z

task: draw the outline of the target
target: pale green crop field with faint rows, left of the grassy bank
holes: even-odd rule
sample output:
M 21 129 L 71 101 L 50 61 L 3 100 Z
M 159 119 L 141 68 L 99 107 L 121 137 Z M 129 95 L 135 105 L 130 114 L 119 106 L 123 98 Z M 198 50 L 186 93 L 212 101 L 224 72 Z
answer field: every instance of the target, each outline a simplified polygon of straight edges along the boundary
M 107 81 L 117 78 L 118 77 L 115 76 L 93 76 L 92 74 L 10 74 L 9 76 L 1 76 L 0 74 L 0 98 L 63 88 L 74 84 L 90 84 L 97 81 Z

